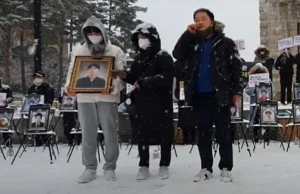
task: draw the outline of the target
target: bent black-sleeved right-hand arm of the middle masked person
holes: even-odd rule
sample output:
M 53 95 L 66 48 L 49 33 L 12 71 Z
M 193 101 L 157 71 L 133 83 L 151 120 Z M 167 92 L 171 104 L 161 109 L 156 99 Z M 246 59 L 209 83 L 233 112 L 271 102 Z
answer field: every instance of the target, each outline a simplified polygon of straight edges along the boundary
M 159 74 L 138 80 L 138 85 L 141 90 L 143 88 L 155 89 L 165 87 L 169 84 L 172 85 L 174 78 L 174 63 L 172 57 L 168 53 L 162 53 L 159 60 L 160 62 L 157 64 L 158 68 L 160 68 Z

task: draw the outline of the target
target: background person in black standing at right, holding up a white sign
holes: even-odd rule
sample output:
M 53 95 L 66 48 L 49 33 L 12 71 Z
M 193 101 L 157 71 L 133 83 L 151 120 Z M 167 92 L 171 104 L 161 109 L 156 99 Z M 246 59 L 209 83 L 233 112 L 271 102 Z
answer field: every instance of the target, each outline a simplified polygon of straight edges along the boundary
M 276 60 L 275 68 L 280 74 L 280 91 L 282 104 L 285 104 L 285 94 L 287 93 L 287 103 L 292 102 L 292 84 L 294 74 L 295 57 L 286 49 Z

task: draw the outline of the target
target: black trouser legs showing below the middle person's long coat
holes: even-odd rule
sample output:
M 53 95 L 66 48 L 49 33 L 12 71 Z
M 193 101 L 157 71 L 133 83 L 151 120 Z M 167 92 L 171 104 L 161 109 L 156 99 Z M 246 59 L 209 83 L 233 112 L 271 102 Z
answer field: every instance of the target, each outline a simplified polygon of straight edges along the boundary
M 171 149 L 172 144 L 166 143 L 160 145 L 160 163 L 159 166 L 170 166 L 171 163 Z M 139 156 L 140 156 L 140 167 L 149 167 L 149 159 L 150 159 L 150 153 L 149 153 L 149 146 L 138 144 L 138 150 L 139 150 Z

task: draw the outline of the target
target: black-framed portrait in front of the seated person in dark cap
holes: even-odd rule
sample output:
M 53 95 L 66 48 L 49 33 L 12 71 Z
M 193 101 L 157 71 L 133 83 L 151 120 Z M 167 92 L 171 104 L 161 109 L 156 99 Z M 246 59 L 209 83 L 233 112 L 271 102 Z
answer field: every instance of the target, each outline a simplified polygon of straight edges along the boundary
M 29 109 L 27 133 L 47 132 L 49 126 L 49 105 L 32 105 Z

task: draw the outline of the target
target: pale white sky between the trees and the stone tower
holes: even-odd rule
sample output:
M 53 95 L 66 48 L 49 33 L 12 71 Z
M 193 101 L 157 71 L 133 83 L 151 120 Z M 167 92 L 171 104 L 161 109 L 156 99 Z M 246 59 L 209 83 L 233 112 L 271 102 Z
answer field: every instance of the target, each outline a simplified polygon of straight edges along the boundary
M 260 44 L 259 0 L 139 0 L 138 5 L 148 8 L 138 18 L 157 27 L 162 48 L 169 52 L 193 23 L 194 11 L 202 7 L 226 25 L 226 36 L 245 40 L 246 50 L 240 54 L 246 61 L 253 61 L 253 52 Z

